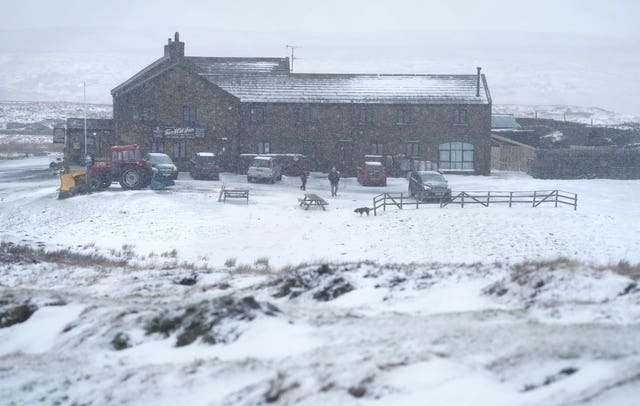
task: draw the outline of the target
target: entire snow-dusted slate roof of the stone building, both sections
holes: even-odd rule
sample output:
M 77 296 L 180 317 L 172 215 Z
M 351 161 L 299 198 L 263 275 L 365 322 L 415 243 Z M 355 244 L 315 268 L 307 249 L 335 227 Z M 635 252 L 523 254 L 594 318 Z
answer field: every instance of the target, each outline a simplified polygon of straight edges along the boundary
M 114 96 L 181 66 L 248 103 L 489 104 L 482 75 L 289 73 L 289 58 L 162 57 L 112 90 Z

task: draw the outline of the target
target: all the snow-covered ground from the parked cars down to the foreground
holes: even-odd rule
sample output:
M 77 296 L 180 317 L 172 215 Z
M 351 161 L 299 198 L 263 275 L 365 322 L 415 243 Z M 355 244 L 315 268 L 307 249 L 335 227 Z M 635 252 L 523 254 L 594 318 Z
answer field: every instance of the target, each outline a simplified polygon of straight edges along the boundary
M 332 198 L 312 173 L 307 190 L 327 211 L 298 206 L 297 178 L 234 174 L 59 201 L 53 158 L 0 161 L 6 404 L 640 397 L 640 181 L 448 176 L 454 193 L 574 192 L 578 209 L 367 217 L 353 209 L 407 181 L 347 178 Z M 249 204 L 218 203 L 222 183 L 249 187 Z

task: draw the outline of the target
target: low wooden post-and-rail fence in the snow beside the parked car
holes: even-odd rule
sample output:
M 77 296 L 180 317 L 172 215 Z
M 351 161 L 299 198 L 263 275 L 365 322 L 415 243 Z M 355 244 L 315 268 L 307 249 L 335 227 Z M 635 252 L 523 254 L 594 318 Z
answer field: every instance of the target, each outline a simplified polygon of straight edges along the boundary
M 508 204 L 509 207 L 518 204 L 527 204 L 531 207 L 538 207 L 540 205 L 553 205 L 554 207 L 558 207 L 566 205 L 572 206 L 574 210 L 577 210 L 578 195 L 563 190 L 536 190 L 532 192 L 473 191 L 458 192 L 452 195 L 449 200 L 419 201 L 415 197 L 405 193 L 383 193 L 373 198 L 373 214 L 377 215 L 379 209 L 386 211 L 387 206 L 397 207 L 402 210 L 405 207 L 415 207 L 417 209 L 422 204 L 439 204 L 440 207 L 459 204 L 461 208 L 464 208 L 465 205 L 476 204 L 484 207 L 489 207 L 491 204 Z

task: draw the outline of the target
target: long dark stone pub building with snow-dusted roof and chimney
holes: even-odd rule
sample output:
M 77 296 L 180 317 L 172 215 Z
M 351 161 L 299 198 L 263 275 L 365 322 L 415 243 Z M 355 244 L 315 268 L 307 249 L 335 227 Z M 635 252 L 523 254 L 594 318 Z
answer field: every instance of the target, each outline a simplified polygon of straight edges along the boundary
M 118 142 L 185 168 L 200 151 L 234 169 L 240 154 L 297 153 L 350 173 L 365 155 L 394 165 L 488 174 L 491 96 L 484 75 L 291 73 L 288 58 L 164 55 L 111 91 Z

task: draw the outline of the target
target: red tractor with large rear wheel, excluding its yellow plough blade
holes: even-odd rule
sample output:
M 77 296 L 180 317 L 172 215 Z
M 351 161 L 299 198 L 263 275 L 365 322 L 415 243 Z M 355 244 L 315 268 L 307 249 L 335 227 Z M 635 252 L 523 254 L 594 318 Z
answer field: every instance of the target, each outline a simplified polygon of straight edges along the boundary
M 87 168 L 87 182 L 91 189 L 108 189 L 119 182 L 123 189 L 142 189 L 151 183 L 151 165 L 140 157 L 137 145 L 114 145 L 106 159 L 93 162 Z

